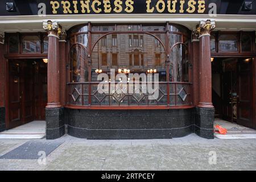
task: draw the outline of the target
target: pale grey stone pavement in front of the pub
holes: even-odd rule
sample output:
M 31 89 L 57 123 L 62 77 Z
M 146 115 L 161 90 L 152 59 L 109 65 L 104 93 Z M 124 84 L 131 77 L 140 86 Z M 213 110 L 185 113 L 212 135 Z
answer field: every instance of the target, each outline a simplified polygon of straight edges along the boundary
M 68 135 L 42 164 L 0 159 L 3 170 L 256 170 L 256 139 L 86 140 Z M 0 156 L 28 140 L 0 140 Z M 40 141 L 48 141 L 40 139 Z M 216 157 L 215 157 L 216 156 Z

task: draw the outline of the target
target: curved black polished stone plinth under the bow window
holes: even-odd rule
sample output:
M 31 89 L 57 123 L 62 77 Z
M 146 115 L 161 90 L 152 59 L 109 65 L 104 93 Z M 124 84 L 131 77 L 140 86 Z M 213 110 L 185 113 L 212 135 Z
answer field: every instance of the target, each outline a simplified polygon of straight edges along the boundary
M 87 139 L 170 139 L 193 133 L 194 109 L 66 109 L 68 134 Z

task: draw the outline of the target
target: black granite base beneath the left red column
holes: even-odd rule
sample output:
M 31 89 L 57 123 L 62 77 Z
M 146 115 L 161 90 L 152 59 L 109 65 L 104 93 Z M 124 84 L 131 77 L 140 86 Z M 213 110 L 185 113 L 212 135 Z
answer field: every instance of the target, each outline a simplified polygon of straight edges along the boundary
M 64 108 L 46 108 L 46 139 L 57 139 L 64 134 Z

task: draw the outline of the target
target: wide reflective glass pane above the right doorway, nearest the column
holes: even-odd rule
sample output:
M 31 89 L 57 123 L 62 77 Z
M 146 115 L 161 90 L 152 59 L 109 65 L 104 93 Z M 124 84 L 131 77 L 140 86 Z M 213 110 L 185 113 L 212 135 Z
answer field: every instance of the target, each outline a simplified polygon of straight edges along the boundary
M 222 52 L 238 51 L 237 36 L 231 34 L 220 35 L 218 48 Z

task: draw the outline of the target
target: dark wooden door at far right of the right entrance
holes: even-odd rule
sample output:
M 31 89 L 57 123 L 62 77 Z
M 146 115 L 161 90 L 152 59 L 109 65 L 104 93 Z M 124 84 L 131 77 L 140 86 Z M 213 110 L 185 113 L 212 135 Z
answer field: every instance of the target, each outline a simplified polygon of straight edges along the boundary
M 252 60 L 238 61 L 238 125 L 253 127 Z

